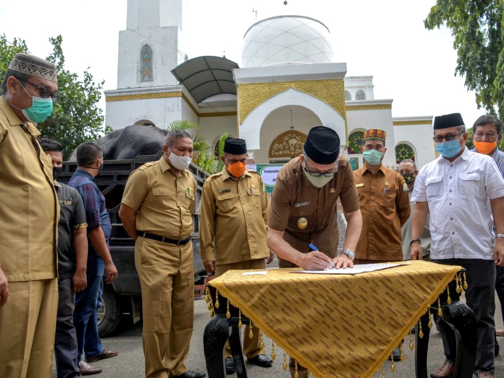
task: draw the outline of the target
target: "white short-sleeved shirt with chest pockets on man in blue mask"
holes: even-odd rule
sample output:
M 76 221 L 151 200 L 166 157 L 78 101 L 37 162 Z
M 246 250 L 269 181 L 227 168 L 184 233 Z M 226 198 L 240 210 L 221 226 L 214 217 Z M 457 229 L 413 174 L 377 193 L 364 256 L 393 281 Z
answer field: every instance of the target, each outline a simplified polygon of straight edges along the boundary
M 431 259 L 493 260 L 490 200 L 504 197 L 504 180 L 490 156 L 467 147 L 450 163 L 439 156 L 418 173 L 411 201 L 427 201 Z

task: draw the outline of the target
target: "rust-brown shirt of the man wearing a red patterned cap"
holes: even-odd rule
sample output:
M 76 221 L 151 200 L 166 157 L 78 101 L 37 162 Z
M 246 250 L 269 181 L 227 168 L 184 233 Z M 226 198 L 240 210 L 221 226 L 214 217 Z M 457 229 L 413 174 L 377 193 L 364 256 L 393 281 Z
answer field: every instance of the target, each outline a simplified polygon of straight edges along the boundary
M 401 227 L 411 212 L 406 181 L 383 164 L 376 174 L 364 164 L 353 175 L 362 213 L 362 232 L 355 258 L 402 260 Z

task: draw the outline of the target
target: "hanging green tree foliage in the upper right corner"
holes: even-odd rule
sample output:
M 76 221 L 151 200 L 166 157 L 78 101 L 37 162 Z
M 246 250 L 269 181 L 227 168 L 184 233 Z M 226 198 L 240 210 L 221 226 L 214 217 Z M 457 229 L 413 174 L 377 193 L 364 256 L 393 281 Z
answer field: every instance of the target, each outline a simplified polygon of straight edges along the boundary
M 502 0 L 437 0 L 424 25 L 446 25 L 457 51 L 455 75 L 476 94 L 476 104 L 504 116 L 504 2 Z

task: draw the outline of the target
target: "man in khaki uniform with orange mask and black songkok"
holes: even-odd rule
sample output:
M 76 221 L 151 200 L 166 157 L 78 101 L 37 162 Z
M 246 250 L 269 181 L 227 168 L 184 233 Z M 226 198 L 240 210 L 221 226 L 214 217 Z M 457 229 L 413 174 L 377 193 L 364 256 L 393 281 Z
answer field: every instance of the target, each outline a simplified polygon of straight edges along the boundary
M 261 175 L 246 170 L 247 148 L 243 139 L 228 138 L 221 156 L 222 172 L 208 177 L 201 200 L 200 240 L 205 269 L 219 277 L 231 269 L 265 269 L 273 260 L 266 245 L 270 200 Z M 215 239 L 215 242 L 214 242 Z M 243 333 L 243 353 L 258 366 L 273 361 L 260 347 L 259 332 Z M 226 343 L 226 371 L 236 371 Z

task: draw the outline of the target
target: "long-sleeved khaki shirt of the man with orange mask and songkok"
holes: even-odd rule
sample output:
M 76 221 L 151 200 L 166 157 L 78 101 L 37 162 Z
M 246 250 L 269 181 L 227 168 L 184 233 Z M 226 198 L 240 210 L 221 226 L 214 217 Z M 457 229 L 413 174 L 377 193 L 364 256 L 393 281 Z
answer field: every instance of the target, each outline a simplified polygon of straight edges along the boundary
M 269 211 L 270 199 L 257 172 L 245 171 L 236 181 L 224 167 L 208 177 L 201 199 L 203 262 L 231 264 L 270 256 Z

